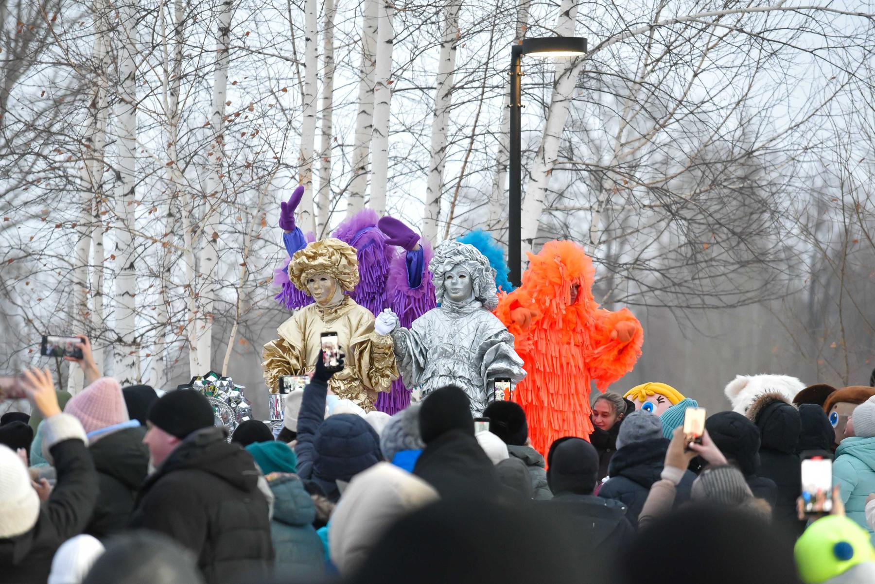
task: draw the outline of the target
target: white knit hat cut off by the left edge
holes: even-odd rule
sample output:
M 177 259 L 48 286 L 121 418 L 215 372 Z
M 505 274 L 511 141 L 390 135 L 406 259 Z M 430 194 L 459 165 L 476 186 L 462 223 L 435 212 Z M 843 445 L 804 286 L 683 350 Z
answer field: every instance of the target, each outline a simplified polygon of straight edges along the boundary
M 39 516 L 39 497 L 14 450 L 0 444 L 0 539 L 31 531 Z

